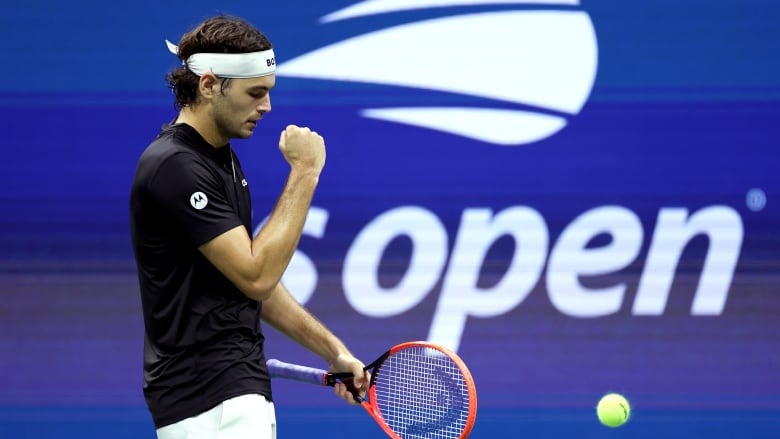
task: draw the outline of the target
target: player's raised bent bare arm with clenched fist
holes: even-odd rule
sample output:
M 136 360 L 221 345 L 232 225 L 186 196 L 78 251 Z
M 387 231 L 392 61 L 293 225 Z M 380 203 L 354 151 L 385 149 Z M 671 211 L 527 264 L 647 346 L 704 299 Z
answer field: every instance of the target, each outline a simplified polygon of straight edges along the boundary
M 279 149 L 290 173 L 260 233 L 251 239 L 239 226 L 199 248 L 236 287 L 258 301 L 270 296 L 287 269 L 325 164 L 325 142 L 308 128 L 288 126 L 279 137 Z

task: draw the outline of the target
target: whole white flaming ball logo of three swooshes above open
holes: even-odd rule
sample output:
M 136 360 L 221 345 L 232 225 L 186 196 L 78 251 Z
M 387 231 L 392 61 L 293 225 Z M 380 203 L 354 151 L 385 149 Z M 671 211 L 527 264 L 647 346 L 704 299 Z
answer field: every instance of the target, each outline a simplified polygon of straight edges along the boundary
M 378 29 L 286 61 L 276 73 L 489 99 L 495 106 L 410 103 L 365 108 L 360 114 L 497 145 L 537 142 L 580 112 L 596 78 L 596 34 L 588 14 L 572 8 L 579 0 L 366 0 L 320 19 L 332 23 L 413 9 L 537 3 L 549 9 L 464 13 Z

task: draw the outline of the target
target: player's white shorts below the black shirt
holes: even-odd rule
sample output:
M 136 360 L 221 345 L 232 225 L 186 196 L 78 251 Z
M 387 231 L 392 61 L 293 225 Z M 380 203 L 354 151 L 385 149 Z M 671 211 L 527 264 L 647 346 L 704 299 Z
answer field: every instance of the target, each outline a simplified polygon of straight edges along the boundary
M 262 395 L 231 398 L 211 410 L 157 429 L 158 439 L 276 439 L 274 404 Z

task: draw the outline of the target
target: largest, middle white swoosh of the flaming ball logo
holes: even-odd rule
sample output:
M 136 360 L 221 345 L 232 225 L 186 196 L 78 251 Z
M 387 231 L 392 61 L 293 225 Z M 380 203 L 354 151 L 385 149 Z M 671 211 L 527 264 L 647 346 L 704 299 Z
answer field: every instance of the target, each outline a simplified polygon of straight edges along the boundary
M 453 36 L 464 38 L 453 40 Z M 458 15 L 382 29 L 282 63 L 279 76 L 417 87 L 576 114 L 596 75 L 581 11 Z

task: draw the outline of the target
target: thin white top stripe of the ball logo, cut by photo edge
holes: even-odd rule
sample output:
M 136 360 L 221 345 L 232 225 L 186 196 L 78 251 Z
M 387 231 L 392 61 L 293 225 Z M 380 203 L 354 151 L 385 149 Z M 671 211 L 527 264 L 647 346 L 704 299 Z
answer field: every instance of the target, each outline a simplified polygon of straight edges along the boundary
M 475 5 L 573 5 L 579 0 L 367 0 L 322 17 L 321 23 L 412 9 Z

